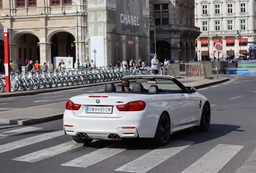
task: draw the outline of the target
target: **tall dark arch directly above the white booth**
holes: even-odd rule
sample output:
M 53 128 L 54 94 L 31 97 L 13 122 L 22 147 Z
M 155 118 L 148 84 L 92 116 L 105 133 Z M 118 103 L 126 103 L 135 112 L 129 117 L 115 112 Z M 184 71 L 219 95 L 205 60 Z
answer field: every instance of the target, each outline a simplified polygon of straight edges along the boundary
M 69 32 L 58 32 L 52 36 L 51 52 L 52 63 L 54 63 L 54 57 L 64 56 L 73 57 L 73 64 L 76 62 L 76 42 L 75 38 Z

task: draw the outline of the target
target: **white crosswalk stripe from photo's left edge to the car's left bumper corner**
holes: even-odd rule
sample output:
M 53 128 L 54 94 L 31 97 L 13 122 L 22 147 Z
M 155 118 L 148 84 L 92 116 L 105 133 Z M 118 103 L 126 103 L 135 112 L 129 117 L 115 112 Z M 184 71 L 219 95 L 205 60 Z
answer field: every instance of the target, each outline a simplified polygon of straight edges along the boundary
M 53 132 L 49 132 L 49 133 L 44 133 L 42 135 L 37 135 L 37 136 L 34 136 L 34 137 L 29 137 L 29 138 L 26 138 L 26 139 L 21 139 L 19 141 L 13 141 L 13 142 L 10 142 L 10 143 L 6 143 L 4 145 L 0 145 L 0 153 L 4 153 L 6 151 L 11 151 L 11 150 L 14 150 L 14 149 L 25 147 L 27 145 L 38 143 L 38 142 L 45 141 L 47 139 L 52 139 L 52 138 L 55 138 L 55 137 L 59 137 L 59 136 L 62 136 L 62 135 L 64 135 L 63 130 L 58 130 L 58 131 L 53 131 Z

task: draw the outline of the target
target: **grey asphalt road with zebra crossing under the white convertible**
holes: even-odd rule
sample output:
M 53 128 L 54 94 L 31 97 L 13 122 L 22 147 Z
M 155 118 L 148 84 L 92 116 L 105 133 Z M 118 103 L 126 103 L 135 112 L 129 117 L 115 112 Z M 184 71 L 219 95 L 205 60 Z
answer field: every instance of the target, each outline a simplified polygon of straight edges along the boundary
M 63 135 L 62 120 L 2 129 L 0 172 L 126 173 L 134 168 L 134 172 L 147 170 L 147 173 L 198 173 L 200 168 L 206 166 L 208 169 L 204 173 L 236 173 L 256 148 L 256 76 L 225 77 L 231 80 L 197 90 L 209 99 L 211 105 L 211 125 L 206 132 L 190 128 L 175 133 L 171 135 L 172 140 L 167 147 L 158 149 L 145 139 L 95 140 L 83 146 L 74 144 L 70 136 Z M 101 89 L 104 86 L 17 97 L 6 100 L 8 104 L 1 99 L 1 103 L 6 103 L 6 108 L 11 109 L 46 105 Z M 46 101 L 50 98 L 55 100 Z M 23 129 L 31 127 L 41 129 Z M 16 133 L 19 134 L 15 135 Z M 5 135 L 7 136 L 4 137 Z M 70 148 L 67 149 L 67 146 Z M 157 152 L 157 156 L 150 159 L 154 152 Z M 170 153 L 174 154 L 170 156 Z M 165 158 L 164 161 L 162 158 Z M 150 164 L 147 167 L 136 167 L 141 160 L 146 165 Z M 221 161 L 223 163 L 219 163 Z M 219 169 L 212 170 L 215 164 L 219 164 Z

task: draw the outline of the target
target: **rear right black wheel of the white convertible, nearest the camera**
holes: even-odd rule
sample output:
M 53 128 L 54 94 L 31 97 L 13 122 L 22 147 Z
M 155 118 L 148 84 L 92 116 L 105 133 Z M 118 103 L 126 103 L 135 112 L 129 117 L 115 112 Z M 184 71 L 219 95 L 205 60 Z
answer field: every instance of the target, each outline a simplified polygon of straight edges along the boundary
M 170 139 L 170 132 L 171 132 L 171 123 L 170 123 L 169 115 L 167 113 L 162 113 L 157 125 L 157 131 L 155 133 L 154 143 L 157 146 L 167 145 Z

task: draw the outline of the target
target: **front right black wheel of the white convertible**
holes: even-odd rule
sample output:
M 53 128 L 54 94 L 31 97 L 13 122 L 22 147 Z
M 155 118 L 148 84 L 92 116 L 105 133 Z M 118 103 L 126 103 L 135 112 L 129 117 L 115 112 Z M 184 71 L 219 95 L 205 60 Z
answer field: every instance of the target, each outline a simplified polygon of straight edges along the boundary
M 204 104 L 204 107 L 202 109 L 202 116 L 200 120 L 200 125 L 194 127 L 196 131 L 207 131 L 210 126 L 211 121 L 211 109 L 210 105 L 208 103 Z

